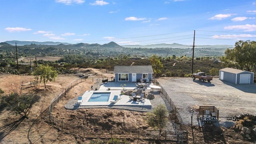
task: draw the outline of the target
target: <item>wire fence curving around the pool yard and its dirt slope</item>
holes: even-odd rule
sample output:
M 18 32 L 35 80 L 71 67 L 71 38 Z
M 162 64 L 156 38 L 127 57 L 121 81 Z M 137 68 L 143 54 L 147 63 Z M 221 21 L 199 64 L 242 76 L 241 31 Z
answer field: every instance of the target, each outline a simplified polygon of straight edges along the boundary
M 95 84 L 100 84 L 103 81 L 106 82 L 108 78 L 101 77 L 101 78 L 95 78 L 95 77 L 87 77 L 83 76 L 81 78 L 78 78 L 77 80 L 74 80 L 68 86 L 66 86 L 58 96 L 56 96 L 49 106 L 49 120 L 50 122 L 59 129 L 62 132 L 66 132 L 68 134 L 72 134 L 76 136 L 76 140 L 82 141 L 84 138 L 132 138 L 132 139 L 143 139 L 143 140 L 162 140 L 163 142 L 187 142 L 188 141 L 188 132 L 182 131 L 182 119 L 180 115 L 176 114 L 175 109 L 175 122 L 177 120 L 177 123 L 180 124 L 180 130 L 178 128 L 175 128 L 175 130 L 162 130 L 162 133 L 159 134 L 159 130 L 149 130 L 149 129 L 126 129 L 126 128 L 87 128 L 85 127 L 86 122 L 82 122 L 82 124 L 70 124 L 63 122 L 63 120 L 58 120 L 56 117 L 52 115 L 52 108 L 59 102 L 59 100 L 65 96 L 65 94 L 72 89 L 74 86 L 78 85 L 81 82 L 95 82 Z M 110 78 L 111 79 L 111 78 Z M 113 80 L 113 78 L 112 78 Z M 112 81 L 111 80 L 111 81 Z M 164 94 L 165 93 L 165 94 Z M 169 111 L 172 111 L 174 108 L 174 104 L 171 101 L 170 97 L 168 96 L 167 92 L 162 89 L 162 98 L 165 100 L 166 106 L 168 107 Z M 180 118 L 181 122 L 178 122 L 178 119 Z M 175 124 L 176 126 L 176 124 Z M 177 125 L 178 126 L 178 125 Z M 177 127 L 176 126 L 176 127 Z

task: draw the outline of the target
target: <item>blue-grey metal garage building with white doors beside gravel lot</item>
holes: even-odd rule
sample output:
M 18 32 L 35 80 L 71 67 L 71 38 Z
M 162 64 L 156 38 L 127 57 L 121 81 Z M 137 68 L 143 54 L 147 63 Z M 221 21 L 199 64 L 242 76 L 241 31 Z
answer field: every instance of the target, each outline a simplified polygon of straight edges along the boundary
M 219 79 L 233 84 L 253 84 L 254 73 L 235 68 L 223 68 L 220 70 Z

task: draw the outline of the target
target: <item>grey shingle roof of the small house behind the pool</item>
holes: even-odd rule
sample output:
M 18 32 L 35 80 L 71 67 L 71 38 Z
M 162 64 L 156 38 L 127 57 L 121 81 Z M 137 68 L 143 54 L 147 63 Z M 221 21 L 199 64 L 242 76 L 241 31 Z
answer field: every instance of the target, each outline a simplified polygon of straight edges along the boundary
M 115 66 L 114 73 L 154 73 L 152 66 Z

